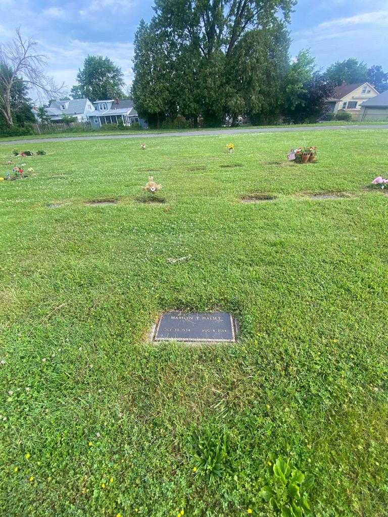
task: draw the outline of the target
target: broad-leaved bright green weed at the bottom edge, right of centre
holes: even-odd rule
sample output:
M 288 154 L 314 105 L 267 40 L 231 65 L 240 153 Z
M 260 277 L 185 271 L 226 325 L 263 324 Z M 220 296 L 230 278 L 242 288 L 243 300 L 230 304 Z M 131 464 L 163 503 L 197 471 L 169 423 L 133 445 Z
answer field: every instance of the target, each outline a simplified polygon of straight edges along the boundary
M 280 457 L 271 465 L 271 478 L 260 495 L 277 515 L 303 517 L 310 512 L 305 488 L 306 476 Z

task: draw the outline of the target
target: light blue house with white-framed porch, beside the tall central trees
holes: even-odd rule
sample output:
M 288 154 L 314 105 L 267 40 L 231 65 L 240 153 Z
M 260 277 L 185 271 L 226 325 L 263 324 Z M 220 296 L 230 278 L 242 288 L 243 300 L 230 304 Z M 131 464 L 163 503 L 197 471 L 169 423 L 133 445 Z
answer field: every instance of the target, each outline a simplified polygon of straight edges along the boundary
M 139 123 L 146 127 L 145 121 L 138 116 L 131 100 L 97 100 L 93 102 L 95 111 L 89 116 L 92 127 L 97 129 L 102 124 L 121 124 L 130 126 Z

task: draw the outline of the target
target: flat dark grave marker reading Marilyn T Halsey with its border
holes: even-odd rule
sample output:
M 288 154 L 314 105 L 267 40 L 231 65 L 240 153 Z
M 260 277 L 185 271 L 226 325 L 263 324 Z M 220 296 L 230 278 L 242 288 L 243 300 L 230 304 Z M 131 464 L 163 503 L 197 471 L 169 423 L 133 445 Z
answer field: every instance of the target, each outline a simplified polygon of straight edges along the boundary
M 162 313 L 151 329 L 149 341 L 178 341 L 186 344 L 235 343 L 238 322 L 229 312 Z

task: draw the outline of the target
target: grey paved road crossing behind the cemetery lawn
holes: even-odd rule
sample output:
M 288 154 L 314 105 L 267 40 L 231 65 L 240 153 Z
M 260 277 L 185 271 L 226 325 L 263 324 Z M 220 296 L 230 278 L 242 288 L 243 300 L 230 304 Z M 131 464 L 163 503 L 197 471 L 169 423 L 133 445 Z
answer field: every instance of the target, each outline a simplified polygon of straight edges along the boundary
M 305 126 L 305 127 L 279 127 L 279 128 L 236 128 L 236 129 L 211 129 L 206 131 L 176 131 L 171 133 L 131 133 L 109 134 L 96 136 L 62 136 L 58 138 L 41 138 L 31 140 L 8 140 L 0 145 L 13 144 L 43 144 L 47 142 L 72 142 L 74 140 L 119 140 L 124 138 L 158 138 L 160 136 L 218 136 L 243 133 L 291 133 L 295 131 L 326 131 L 327 129 L 388 129 L 388 124 L 368 124 L 353 126 Z

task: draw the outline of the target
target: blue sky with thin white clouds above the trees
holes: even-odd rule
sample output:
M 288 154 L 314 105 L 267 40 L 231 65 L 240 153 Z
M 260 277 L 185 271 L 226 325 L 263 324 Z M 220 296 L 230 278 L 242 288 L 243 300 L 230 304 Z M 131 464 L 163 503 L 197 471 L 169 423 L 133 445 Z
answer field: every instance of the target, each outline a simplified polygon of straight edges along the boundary
M 0 0 L 0 41 L 20 25 L 68 87 L 87 54 L 109 56 L 130 83 L 133 34 L 152 14 L 152 0 Z M 388 0 L 300 0 L 290 29 L 291 55 L 310 48 L 318 68 L 356 57 L 388 71 Z

